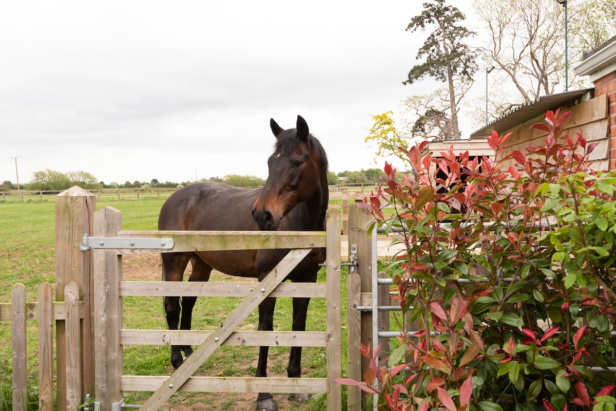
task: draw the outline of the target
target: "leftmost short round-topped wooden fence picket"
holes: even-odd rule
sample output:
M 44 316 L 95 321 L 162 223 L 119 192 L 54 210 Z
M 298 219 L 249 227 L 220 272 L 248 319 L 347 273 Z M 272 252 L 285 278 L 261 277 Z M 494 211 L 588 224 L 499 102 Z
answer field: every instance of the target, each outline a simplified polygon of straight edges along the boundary
M 13 333 L 13 411 L 26 409 L 26 287 L 17 283 L 11 290 Z

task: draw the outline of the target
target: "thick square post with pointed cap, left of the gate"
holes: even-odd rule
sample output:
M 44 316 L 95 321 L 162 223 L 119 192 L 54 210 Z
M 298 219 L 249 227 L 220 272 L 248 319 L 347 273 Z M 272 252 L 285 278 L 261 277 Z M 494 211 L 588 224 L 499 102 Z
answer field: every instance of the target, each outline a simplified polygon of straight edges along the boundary
M 94 289 L 92 285 L 92 261 L 89 253 L 79 250 L 84 234 L 92 232 L 92 216 L 96 210 L 96 198 L 77 185 L 55 196 L 55 299 L 64 301 L 64 288 L 69 282 L 79 287 L 83 300 L 84 318 L 81 321 L 81 398 L 92 393 L 94 388 L 94 328 L 91 309 Z M 65 410 L 66 367 L 65 322 L 56 322 L 57 351 L 57 401 L 58 409 Z

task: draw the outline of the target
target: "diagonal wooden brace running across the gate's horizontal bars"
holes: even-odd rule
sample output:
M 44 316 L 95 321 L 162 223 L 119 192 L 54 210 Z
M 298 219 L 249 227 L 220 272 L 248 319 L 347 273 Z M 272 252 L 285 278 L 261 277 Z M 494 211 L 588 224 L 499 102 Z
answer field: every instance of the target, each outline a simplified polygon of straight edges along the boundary
M 231 333 L 241 324 L 261 302 L 274 291 L 274 288 L 283 282 L 287 275 L 299 264 L 304 257 L 310 253 L 310 249 L 291 250 L 286 254 L 285 258 L 278 263 L 274 269 L 267 274 L 265 279 L 258 283 L 259 287 L 255 288 L 251 293 L 237 306 L 227 319 L 221 324 L 216 331 L 211 333 L 209 337 L 184 360 L 184 363 L 164 382 L 156 393 L 144 402 L 141 406 L 142 411 L 157 411 L 171 396 L 197 371 L 197 368 L 208 359 L 209 356 L 218 348 Z

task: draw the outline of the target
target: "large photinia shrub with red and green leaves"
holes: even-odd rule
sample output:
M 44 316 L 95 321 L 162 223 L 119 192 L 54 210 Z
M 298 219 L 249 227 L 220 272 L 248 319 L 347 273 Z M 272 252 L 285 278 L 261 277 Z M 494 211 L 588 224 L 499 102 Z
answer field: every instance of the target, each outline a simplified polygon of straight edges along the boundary
M 421 331 L 339 382 L 379 410 L 614 410 L 616 173 L 591 169 L 596 144 L 562 136 L 567 118 L 546 113 L 545 145 L 525 153 L 503 157 L 493 132 L 494 159 L 424 142 L 400 149 L 402 179 L 386 163 L 362 206 L 404 245 L 391 272 Z

